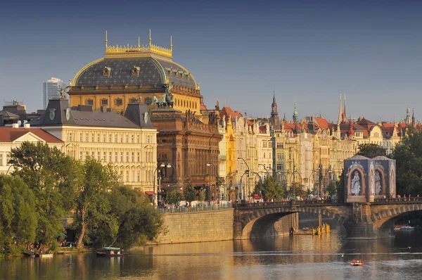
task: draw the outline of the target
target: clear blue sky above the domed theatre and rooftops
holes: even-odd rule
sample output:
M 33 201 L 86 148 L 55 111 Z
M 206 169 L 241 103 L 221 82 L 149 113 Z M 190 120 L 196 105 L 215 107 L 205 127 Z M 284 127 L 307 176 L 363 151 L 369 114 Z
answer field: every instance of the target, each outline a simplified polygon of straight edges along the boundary
M 205 105 L 248 117 L 422 120 L 422 1 L 7 1 L 0 9 L 0 101 L 42 108 L 42 82 L 73 79 L 108 44 L 170 46 Z

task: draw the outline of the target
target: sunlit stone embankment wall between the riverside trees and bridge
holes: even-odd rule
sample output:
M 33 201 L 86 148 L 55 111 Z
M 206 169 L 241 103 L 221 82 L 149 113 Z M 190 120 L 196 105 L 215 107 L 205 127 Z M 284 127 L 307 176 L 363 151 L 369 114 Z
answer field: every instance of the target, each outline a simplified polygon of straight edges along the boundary
M 224 241 L 233 239 L 234 209 L 165 214 L 167 234 L 158 244 Z

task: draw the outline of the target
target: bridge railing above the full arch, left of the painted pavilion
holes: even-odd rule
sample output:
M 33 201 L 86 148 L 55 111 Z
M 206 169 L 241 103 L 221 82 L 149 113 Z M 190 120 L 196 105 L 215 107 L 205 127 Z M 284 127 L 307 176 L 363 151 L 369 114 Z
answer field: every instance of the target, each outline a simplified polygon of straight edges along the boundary
M 341 199 L 321 200 L 321 201 L 274 201 L 274 202 L 259 202 L 259 203 L 237 203 L 233 207 L 235 209 L 248 208 L 273 208 L 277 206 L 320 206 L 320 205 L 339 205 L 344 204 Z

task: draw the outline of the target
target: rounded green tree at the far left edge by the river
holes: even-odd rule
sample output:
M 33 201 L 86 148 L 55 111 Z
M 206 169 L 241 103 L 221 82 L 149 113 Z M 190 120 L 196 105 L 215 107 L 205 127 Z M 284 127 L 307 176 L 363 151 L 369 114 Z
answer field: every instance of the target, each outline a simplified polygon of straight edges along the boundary
M 0 249 L 35 241 L 34 193 L 22 179 L 0 175 Z

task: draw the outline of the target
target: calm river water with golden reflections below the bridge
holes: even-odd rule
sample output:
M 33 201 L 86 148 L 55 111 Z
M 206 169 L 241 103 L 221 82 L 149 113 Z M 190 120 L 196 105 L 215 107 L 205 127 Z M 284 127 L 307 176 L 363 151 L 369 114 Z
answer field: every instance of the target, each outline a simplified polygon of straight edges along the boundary
M 0 279 L 422 279 L 420 237 L 408 231 L 346 241 L 343 229 L 331 224 L 329 236 L 146 246 L 115 258 L 4 258 Z M 351 267 L 353 259 L 364 260 L 364 266 Z

